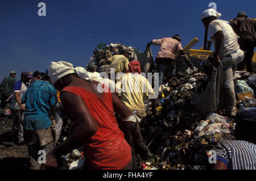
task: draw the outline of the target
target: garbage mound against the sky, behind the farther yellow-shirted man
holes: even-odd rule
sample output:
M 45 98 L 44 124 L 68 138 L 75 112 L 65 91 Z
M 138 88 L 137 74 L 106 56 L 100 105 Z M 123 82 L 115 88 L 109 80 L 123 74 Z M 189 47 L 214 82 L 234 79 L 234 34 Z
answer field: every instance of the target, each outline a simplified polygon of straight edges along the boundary
M 114 56 L 115 54 L 121 54 L 123 49 L 129 50 L 131 52 L 129 60 L 137 60 L 137 53 L 135 52 L 136 48 L 122 45 L 121 43 L 110 43 L 110 45 L 103 44 L 102 49 L 95 49 L 93 56 L 90 58 L 89 63 L 96 64 L 98 67 L 104 65 L 109 57 Z

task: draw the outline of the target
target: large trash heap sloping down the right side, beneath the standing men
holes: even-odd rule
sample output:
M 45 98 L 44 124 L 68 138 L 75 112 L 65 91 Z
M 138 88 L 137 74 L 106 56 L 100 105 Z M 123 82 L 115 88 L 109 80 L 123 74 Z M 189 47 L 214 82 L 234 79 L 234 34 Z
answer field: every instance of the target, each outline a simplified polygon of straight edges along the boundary
M 176 78 L 160 86 L 157 113 L 152 114 L 148 110 L 146 119 L 141 123 L 141 132 L 151 151 L 151 158 L 147 161 L 139 159 L 139 169 L 210 169 L 209 157 L 216 142 L 236 139 L 236 118 L 225 116 L 225 110 L 210 112 L 203 117 L 190 104 L 191 96 L 203 92 L 208 82 L 209 78 L 204 73 L 179 72 Z M 234 82 L 236 94 L 241 97 L 237 102 L 240 112 L 255 110 L 256 76 L 236 71 Z M 242 97 L 240 94 L 245 95 Z

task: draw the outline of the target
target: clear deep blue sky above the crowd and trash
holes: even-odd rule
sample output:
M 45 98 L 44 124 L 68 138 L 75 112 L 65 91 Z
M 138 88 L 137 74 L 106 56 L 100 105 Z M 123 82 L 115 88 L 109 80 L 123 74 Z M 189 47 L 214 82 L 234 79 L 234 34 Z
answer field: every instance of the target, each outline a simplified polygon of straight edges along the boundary
M 46 3 L 46 16 L 38 16 L 38 3 Z M 194 37 L 203 47 L 201 12 L 215 2 L 220 19 L 229 20 L 240 11 L 256 18 L 256 1 L 82 1 L 1 0 L 0 80 L 10 70 L 44 71 L 51 61 L 65 60 L 86 66 L 99 43 L 121 43 L 141 52 L 152 39 L 178 33 L 183 47 Z M 151 45 L 153 56 L 159 47 Z

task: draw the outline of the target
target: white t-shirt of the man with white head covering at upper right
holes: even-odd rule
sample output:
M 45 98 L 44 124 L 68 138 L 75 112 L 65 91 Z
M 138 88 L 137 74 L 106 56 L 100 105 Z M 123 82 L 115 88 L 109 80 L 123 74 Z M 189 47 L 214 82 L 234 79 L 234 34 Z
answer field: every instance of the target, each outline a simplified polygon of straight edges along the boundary
M 237 52 L 240 49 L 238 45 L 238 35 L 233 31 L 232 27 L 228 24 L 229 22 L 221 19 L 214 20 L 209 24 L 209 36 L 212 39 L 212 43 L 215 47 L 216 40 L 213 38 L 216 32 L 222 31 L 224 40 L 220 49 L 220 58 L 224 58 L 228 54 Z

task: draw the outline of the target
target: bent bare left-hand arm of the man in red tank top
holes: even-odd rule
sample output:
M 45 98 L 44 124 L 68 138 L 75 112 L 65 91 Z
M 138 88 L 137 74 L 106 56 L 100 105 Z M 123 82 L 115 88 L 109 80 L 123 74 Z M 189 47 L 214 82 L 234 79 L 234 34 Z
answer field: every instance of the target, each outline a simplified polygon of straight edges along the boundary
M 97 132 L 97 123 L 80 96 L 71 92 L 63 92 L 61 103 L 76 127 L 67 140 L 48 154 L 46 165 L 43 165 L 42 169 L 56 168 L 57 158 L 84 145 L 88 138 Z

